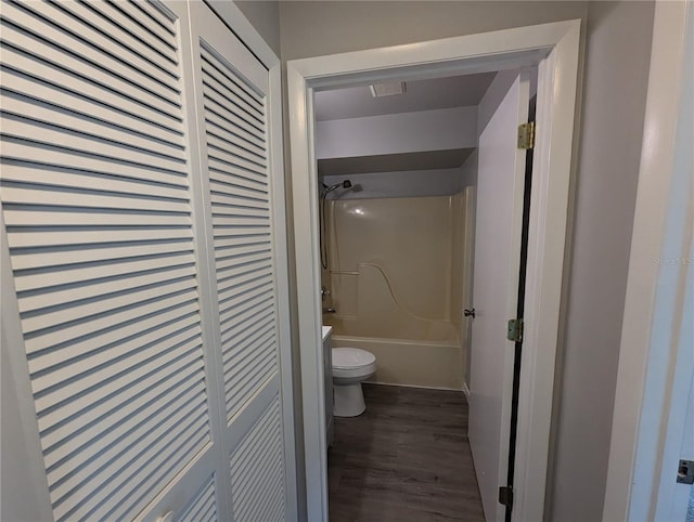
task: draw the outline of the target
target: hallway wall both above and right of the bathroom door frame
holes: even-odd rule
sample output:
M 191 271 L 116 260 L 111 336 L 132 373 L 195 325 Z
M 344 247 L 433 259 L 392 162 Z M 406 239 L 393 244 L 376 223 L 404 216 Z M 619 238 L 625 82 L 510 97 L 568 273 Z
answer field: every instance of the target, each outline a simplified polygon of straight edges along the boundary
M 651 2 L 628 1 L 280 3 L 283 61 L 583 21 L 586 102 L 580 112 L 576 203 L 569 210 L 575 236 L 567 266 L 556 467 L 548 488 L 554 498 L 548 520 L 600 520 L 602 511 L 652 14 Z

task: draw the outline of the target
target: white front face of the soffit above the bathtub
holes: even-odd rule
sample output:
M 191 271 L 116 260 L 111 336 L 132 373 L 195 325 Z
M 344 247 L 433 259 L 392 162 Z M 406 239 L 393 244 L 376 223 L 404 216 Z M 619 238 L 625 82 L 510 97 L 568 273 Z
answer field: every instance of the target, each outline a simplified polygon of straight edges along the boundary
M 316 157 L 348 158 L 477 146 L 477 107 L 316 122 Z

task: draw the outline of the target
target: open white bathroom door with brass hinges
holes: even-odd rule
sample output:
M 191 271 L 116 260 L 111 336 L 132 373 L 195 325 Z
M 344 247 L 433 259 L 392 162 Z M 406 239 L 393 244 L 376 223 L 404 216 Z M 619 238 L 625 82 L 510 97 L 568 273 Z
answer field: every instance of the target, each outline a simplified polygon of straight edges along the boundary
M 514 343 L 506 323 L 518 296 L 529 81 L 519 75 L 479 136 L 470 378 L 470 444 L 487 521 L 503 520 Z

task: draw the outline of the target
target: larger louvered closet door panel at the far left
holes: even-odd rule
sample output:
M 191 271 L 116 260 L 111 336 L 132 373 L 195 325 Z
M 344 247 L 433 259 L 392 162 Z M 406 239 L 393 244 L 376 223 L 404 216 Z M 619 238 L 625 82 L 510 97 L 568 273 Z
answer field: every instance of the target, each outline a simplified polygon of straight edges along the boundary
M 0 10 L 3 285 L 14 285 L 17 315 L 3 328 L 21 329 L 10 349 L 27 368 L 17 379 L 33 393 L 55 520 L 230 518 L 185 10 Z M 230 396 L 254 392 L 253 375 Z M 272 401 L 264 407 L 252 429 L 270 436 Z M 232 459 L 274 465 L 271 442 L 259 455 L 243 444 Z

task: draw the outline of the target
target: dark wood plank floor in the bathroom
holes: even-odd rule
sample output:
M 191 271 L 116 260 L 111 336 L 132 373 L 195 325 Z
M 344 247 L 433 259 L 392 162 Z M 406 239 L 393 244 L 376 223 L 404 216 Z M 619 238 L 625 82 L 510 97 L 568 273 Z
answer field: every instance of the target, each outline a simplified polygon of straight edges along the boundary
M 335 419 L 331 522 L 484 522 L 462 392 L 364 384 L 367 412 Z

